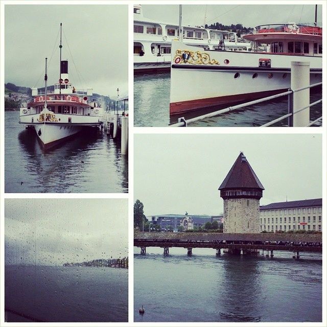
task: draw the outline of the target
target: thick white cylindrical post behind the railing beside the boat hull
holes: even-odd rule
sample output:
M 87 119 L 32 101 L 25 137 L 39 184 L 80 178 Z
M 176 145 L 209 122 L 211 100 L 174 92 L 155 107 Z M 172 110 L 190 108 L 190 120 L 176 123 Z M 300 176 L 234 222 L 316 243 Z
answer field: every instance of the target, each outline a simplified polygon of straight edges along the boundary
M 310 62 L 291 62 L 291 89 L 296 90 L 310 85 Z M 293 111 L 309 106 L 310 88 L 293 93 Z M 294 127 L 304 127 L 310 123 L 310 108 L 296 113 L 293 117 Z

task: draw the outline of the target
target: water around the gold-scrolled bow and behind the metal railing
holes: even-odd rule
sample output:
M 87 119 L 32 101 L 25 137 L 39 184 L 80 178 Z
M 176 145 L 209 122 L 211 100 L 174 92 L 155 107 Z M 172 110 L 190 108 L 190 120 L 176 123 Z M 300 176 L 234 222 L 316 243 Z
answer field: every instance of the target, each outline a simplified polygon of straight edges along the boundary
M 169 116 L 170 73 L 134 76 L 134 126 L 168 126 L 177 123 L 180 116 L 190 119 L 206 112 L 228 107 L 217 106 L 208 110 Z M 321 89 L 311 92 L 310 103 L 321 99 Z M 321 116 L 321 104 L 311 107 L 310 120 Z M 244 107 L 230 113 L 208 118 L 189 126 L 261 126 L 288 113 L 287 97 Z M 287 126 L 287 120 L 274 126 Z M 318 123 L 317 126 L 321 126 Z

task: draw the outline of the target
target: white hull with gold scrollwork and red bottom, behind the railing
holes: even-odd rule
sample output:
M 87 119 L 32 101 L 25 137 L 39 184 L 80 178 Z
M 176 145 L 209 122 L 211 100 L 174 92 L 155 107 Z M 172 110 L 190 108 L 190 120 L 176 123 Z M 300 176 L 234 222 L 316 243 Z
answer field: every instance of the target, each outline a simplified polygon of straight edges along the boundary
M 185 51 L 193 53 L 189 62 L 180 59 Z M 172 52 L 170 114 L 287 90 L 291 87 L 291 61 L 310 61 L 310 84 L 322 78 L 321 57 L 204 51 L 180 42 L 173 42 Z M 271 66 L 259 66 L 262 59 L 270 60 Z

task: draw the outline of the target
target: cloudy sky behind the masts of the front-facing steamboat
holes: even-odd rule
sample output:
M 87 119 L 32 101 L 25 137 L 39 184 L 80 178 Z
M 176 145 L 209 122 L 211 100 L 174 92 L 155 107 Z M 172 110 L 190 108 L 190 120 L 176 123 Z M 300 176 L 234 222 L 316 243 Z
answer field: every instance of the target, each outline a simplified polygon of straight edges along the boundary
M 43 87 L 44 58 L 50 61 L 53 49 L 48 84 L 58 81 L 60 22 L 70 81 L 101 95 L 114 97 L 117 87 L 127 94 L 126 5 L 5 5 L 5 82 Z

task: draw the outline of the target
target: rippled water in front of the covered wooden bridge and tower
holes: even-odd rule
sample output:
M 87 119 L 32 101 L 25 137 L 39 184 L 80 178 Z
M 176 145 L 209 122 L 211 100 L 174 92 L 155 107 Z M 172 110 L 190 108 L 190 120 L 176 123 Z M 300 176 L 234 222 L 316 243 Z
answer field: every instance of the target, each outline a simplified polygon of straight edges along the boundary
M 214 249 L 134 250 L 134 321 L 321 321 L 322 256 L 274 251 L 216 257 Z M 144 306 L 145 313 L 138 309 Z

